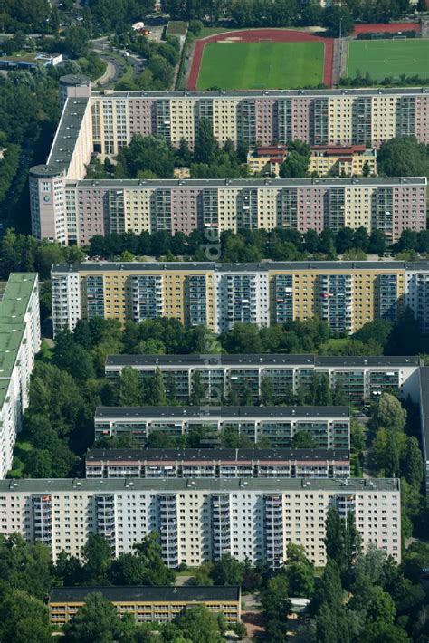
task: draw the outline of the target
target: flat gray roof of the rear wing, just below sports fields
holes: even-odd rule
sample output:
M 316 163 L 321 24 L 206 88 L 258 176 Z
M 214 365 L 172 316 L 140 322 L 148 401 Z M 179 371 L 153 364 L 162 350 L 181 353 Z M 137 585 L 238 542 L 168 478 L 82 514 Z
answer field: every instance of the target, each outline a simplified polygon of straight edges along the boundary
M 113 98 L 150 98 L 166 100 L 171 98 L 207 99 L 207 98 L 329 98 L 330 96 L 420 96 L 429 93 L 427 87 L 367 87 L 364 89 L 338 89 L 338 90 L 265 90 L 265 91 L 92 91 L 92 96 L 106 99 Z

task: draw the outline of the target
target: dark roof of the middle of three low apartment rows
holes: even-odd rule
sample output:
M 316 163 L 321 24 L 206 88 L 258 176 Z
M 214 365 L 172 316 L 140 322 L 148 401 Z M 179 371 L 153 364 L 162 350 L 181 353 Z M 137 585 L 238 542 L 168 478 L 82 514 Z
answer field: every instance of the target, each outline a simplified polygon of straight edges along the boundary
M 349 417 L 348 407 L 97 407 L 95 418 Z

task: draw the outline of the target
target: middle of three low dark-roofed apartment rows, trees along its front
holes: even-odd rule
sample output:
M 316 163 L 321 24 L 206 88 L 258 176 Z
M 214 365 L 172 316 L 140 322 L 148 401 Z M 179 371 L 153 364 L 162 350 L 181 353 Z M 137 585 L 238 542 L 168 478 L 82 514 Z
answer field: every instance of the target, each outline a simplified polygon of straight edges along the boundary
M 319 448 L 350 446 L 348 407 L 98 407 L 94 424 L 96 438 L 131 433 L 142 442 L 154 431 L 180 437 L 205 428 L 233 429 L 253 442 L 265 438 L 276 448 L 290 447 L 300 431 Z

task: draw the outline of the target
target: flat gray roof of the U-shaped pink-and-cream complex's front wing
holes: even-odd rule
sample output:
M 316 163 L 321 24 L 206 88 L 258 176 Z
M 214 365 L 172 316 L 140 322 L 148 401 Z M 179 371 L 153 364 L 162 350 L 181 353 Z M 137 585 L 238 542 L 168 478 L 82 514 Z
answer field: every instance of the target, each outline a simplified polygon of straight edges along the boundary
M 84 99 L 81 99 L 82 101 Z M 53 149 L 49 162 L 56 163 Z M 84 178 L 69 181 L 69 185 L 79 188 L 109 187 L 147 187 L 165 189 L 180 187 L 204 189 L 205 187 L 377 187 L 377 186 L 425 186 L 426 177 L 377 177 L 377 178 Z

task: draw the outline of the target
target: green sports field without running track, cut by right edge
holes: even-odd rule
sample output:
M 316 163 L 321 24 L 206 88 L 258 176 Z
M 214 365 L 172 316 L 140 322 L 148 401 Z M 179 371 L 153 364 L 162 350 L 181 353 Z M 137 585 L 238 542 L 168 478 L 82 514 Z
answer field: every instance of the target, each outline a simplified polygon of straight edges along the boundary
M 372 78 L 381 80 L 386 76 L 429 77 L 429 40 L 354 40 L 348 43 L 349 78 L 358 70 L 369 72 Z

